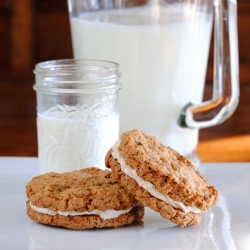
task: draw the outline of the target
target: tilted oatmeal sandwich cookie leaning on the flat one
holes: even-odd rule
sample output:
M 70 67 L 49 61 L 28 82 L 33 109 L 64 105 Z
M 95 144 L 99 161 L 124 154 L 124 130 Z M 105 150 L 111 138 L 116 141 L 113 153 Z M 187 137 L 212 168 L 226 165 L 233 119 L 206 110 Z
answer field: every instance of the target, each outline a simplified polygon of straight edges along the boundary
M 192 163 L 140 130 L 123 133 L 107 153 L 111 177 L 144 206 L 183 227 L 200 222 L 219 193 Z

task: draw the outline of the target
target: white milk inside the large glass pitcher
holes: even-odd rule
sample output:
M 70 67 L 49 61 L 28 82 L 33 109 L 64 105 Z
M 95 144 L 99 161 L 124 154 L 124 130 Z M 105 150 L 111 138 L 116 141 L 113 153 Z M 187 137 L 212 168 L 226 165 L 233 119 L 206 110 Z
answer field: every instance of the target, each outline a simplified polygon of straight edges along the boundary
M 121 65 L 120 132 L 138 128 L 190 155 L 198 130 L 179 128 L 177 119 L 184 105 L 202 100 L 212 15 L 180 11 L 177 5 L 83 13 L 71 17 L 71 32 L 75 58 Z

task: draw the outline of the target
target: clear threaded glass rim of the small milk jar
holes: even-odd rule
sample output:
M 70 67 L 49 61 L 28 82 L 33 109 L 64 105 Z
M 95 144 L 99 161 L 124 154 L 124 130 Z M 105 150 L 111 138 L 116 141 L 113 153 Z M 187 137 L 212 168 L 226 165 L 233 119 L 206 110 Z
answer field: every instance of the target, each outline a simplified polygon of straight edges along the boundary
M 120 65 L 96 59 L 61 59 L 40 62 L 34 69 L 36 91 L 97 92 L 120 89 Z

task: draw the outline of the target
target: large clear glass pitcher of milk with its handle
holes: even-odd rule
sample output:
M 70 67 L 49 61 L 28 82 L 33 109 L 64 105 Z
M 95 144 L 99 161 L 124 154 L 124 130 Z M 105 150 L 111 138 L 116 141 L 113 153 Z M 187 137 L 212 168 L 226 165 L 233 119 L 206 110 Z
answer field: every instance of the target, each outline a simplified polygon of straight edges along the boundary
M 239 99 L 235 0 L 68 0 L 75 58 L 120 64 L 120 132 L 138 128 L 194 162 L 198 130 Z M 214 23 L 214 92 L 202 103 Z

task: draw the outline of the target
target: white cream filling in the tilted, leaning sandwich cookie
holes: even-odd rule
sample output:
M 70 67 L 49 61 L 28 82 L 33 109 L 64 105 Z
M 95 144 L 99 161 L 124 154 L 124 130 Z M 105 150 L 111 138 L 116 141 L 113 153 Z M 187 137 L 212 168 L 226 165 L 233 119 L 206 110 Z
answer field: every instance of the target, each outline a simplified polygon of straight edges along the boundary
M 144 189 L 146 189 L 152 196 L 158 198 L 159 200 L 164 201 L 166 204 L 169 204 L 171 206 L 173 206 L 174 208 L 179 208 L 181 209 L 183 212 L 185 213 L 201 213 L 202 211 L 197 208 L 196 206 L 193 207 L 189 207 L 186 206 L 184 203 L 180 202 L 180 201 L 175 201 L 173 200 L 171 197 L 169 197 L 168 195 L 164 195 L 162 193 L 160 193 L 155 186 L 148 181 L 143 180 L 141 177 L 139 177 L 137 175 L 137 172 L 135 169 L 133 169 L 132 167 L 128 166 L 125 163 L 125 160 L 123 159 L 123 157 L 121 156 L 118 148 L 120 145 L 120 140 L 118 140 L 114 146 L 112 147 L 112 156 L 118 161 L 118 163 L 121 166 L 121 170 L 127 174 L 129 177 L 131 177 L 133 180 L 135 180 L 139 186 L 143 187 Z

